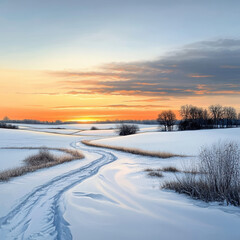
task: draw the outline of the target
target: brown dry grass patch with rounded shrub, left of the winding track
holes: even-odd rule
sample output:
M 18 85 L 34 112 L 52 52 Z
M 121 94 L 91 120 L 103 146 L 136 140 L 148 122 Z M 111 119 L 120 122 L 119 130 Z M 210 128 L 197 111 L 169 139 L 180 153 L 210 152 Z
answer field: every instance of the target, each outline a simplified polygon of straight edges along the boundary
M 8 149 L 39 149 L 39 148 L 8 148 Z M 49 152 L 56 150 L 65 152 L 68 155 L 57 156 Z M 84 155 L 73 149 L 66 148 L 41 148 L 37 154 L 31 155 L 24 160 L 25 166 L 12 168 L 0 172 L 0 181 L 7 181 L 12 177 L 24 175 L 28 172 L 34 172 L 41 168 L 52 167 L 64 162 L 69 162 L 75 159 L 82 159 Z

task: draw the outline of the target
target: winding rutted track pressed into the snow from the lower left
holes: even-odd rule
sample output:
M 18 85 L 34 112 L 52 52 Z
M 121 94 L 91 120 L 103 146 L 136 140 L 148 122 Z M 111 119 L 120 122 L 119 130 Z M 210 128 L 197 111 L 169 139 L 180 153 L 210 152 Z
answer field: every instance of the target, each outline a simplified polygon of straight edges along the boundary
M 75 148 L 76 144 L 71 144 Z M 117 159 L 110 152 L 81 148 L 101 157 L 85 166 L 57 176 L 33 189 L 4 217 L 0 218 L 2 239 L 72 239 L 63 213 L 63 194 L 73 186 L 95 175 L 99 169 Z

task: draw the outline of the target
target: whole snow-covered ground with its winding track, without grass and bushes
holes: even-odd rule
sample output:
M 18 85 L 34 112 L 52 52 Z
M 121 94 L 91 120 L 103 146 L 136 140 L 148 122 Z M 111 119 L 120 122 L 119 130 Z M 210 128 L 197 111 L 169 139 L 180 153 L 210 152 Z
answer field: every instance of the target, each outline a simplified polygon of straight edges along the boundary
M 86 136 L 61 135 L 61 129 L 54 129 L 59 134 L 45 133 L 47 126 L 43 132 L 29 128 L 0 129 L 0 147 L 72 147 L 85 158 L 0 183 L 0 239 L 240 239 L 239 208 L 160 190 L 160 182 L 174 177 L 172 173 L 158 179 L 143 171 L 194 164 L 196 157 L 159 159 L 81 143 L 98 138 L 96 142 L 114 146 L 196 155 L 201 145 L 219 139 L 239 141 L 240 129 L 109 138 L 105 131 L 110 130 L 104 126 L 93 136 L 87 134 L 90 127 L 85 129 Z M 15 166 L 27 154 L 26 150 L 22 155 L 17 151 L 23 150 L 11 151 L 0 149 L 0 169 L 6 167 L 4 159 Z

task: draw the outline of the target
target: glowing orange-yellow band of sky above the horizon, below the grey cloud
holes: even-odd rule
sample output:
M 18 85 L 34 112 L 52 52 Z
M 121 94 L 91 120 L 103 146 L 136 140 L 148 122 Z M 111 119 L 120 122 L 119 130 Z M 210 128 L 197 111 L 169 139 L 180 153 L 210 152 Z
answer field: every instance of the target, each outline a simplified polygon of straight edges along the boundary
M 71 78 L 68 75 L 66 77 Z M 91 82 L 91 84 L 95 83 Z M 154 84 L 140 83 L 140 85 Z M 186 89 L 186 96 L 171 96 L 161 89 L 158 89 L 158 96 L 148 91 L 143 94 L 134 88 L 102 92 L 101 85 L 96 86 L 96 91 L 91 90 L 84 79 L 79 82 L 74 81 L 73 85 L 71 82 L 67 84 L 59 81 L 58 76 L 44 71 L 0 69 L 0 119 L 8 116 L 13 120 L 61 120 L 82 123 L 106 120 L 152 120 L 157 119 L 161 111 L 168 109 L 173 110 L 179 119 L 178 110 L 185 104 L 207 108 L 211 104 L 218 103 L 223 106 L 233 106 L 238 112 L 240 111 L 239 91 L 215 90 L 215 94 L 221 95 L 206 95 L 211 92 L 205 84 L 198 84 L 197 90 Z M 177 88 L 172 90 L 178 91 Z M 76 93 L 73 94 L 73 91 Z

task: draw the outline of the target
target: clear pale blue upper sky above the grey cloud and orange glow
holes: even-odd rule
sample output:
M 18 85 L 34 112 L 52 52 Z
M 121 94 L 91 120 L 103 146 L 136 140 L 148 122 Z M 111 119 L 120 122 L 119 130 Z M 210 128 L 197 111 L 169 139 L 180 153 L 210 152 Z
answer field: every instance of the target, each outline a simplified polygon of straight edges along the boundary
M 0 68 L 93 69 L 239 38 L 239 1 L 0 2 Z

